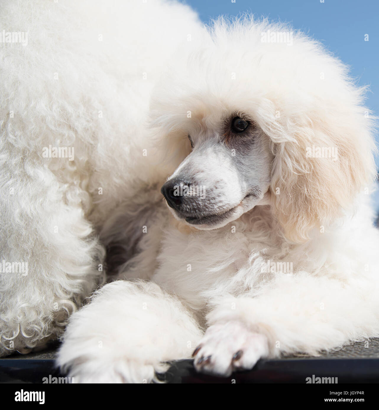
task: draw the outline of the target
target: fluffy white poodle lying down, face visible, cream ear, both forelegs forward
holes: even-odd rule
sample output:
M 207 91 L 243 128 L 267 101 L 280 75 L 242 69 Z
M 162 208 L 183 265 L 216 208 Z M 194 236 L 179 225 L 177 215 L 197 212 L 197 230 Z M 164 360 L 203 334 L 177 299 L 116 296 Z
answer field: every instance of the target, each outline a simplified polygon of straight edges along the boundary
M 81 382 L 143 383 L 194 350 L 198 371 L 229 376 L 378 336 L 364 92 L 288 27 L 247 16 L 192 34 L 146 113 L 171 164 L 165 203 L 143 186 L 103 225 L 127 280 L 71 317 L 58 364 Z

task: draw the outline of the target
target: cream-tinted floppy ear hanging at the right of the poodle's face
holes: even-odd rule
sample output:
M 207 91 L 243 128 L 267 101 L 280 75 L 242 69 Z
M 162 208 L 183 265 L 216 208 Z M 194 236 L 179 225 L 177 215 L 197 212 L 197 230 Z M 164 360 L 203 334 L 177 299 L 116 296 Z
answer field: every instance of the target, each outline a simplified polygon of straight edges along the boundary
M 291 128 L 282 128 L 287 138 L 282 135 L 276 143 L 272 139 L 273 214 L 296 243 L 349 209 L 376 172 L 372 125 L 363 108 L 326 111 L 312 113 L 303 124 L 287 121 Z M 319 157 L 319 148 L 331 157 Z

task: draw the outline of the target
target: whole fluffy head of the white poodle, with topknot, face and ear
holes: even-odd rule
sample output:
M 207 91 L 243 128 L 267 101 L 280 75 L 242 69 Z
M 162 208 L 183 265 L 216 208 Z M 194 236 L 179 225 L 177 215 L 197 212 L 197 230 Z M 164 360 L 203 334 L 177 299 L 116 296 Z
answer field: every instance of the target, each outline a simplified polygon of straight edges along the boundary
M 214 229 L 271 205 L 294 242 L 354 202 L 374 173 L 363 89 L 287 27 L 219 20 L 155 91 L 153 123 L 176 168 L 162 194 L 177 219 Z

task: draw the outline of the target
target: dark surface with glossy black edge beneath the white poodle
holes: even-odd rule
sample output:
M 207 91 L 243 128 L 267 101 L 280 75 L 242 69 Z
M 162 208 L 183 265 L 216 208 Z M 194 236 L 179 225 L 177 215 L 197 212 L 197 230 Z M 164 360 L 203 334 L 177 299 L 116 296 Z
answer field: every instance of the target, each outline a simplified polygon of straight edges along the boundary
M 44 377 L 64 376 L 55 367 L 56 346 L 49 350 L 0 359 L 0 383 L 42 383 Z M 307 377 L 337 377 L 338 383 L 379 382 L 379 339 L 358 342 L 318 357 L 292 355 L 260 360 L 251 371 L 227 378 L 198 374 L 192 360 L 173 362 L 167 383 L 305 383 Z

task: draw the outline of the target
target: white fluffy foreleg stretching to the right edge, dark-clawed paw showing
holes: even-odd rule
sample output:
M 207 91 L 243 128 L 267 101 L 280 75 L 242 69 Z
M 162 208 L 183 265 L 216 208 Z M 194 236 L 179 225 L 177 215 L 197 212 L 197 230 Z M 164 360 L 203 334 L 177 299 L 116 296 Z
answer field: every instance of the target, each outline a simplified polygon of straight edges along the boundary
M 379 335 L 377 284 L 278 274 L 256 297 L 215 298 L 195 349 L 198 371 L 229 376 L 259 358 L 340 348 Z M 370 293 L 367 290 L 370 289 Z

